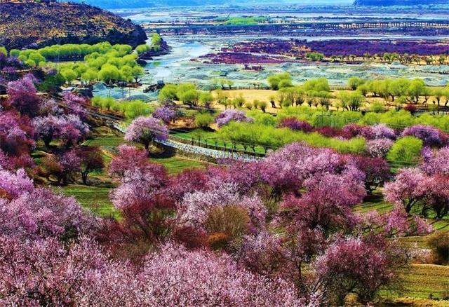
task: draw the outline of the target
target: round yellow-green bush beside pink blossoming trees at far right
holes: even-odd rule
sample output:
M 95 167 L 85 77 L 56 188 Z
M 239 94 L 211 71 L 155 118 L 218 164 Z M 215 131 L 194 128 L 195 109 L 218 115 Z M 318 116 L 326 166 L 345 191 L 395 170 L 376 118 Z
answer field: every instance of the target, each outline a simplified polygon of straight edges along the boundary
M 400 163 L 417 163 L 422 149 L 422 140 L 416 137 L 403 137 L 391 146 L 387 160 Z

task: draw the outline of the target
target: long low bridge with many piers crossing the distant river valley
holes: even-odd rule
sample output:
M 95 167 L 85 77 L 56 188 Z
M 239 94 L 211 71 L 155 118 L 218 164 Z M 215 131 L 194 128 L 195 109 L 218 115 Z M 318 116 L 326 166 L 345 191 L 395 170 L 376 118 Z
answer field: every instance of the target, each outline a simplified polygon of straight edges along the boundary
M 336 30 L 336 29 L 378 29 L 378 28 L 449 28 L 449 20 L 387 20 L 387 21 L 327 21 L 265 23 L 260 25 L 145 25 L 145 29 L 159 34 L 236 34 L 250 32 L 295 32 L 301 29 Z

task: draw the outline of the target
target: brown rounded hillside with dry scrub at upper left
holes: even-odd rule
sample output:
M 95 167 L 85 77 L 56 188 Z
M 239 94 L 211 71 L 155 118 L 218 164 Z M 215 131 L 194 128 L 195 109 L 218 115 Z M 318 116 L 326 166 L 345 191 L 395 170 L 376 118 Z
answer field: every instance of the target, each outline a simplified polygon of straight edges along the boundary
M 0 4 L 0 45 L 42 47 L 56 43 L 145 43 L 138 25 L 86 4 Z

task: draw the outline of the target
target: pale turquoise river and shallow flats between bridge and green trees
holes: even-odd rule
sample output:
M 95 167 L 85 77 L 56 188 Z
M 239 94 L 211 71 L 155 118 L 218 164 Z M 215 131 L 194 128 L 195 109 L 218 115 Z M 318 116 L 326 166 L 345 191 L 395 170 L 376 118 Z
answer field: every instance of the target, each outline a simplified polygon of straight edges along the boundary
M 145 67 L 146 74 L 142 77 L 144 86 L 138 89 L 110 89 L 97 86 L 94 95 L 111 96 L 117 99 L 154 100 L 155 93 L 143 93 L 145 86 L 163 80 L 166 83 L 192 82 L 208 88 L 210 80 L 218 77 L 222 71 L 226 71 L 227 79 L 234 81 L 234 86 L 248 88 L 256 81 L 266 83 L 270 74 L 288 71 L 293 81 L 302 83 L 307 79 L 327 78 L 332 85 L 345 85 L 347 79 L 358 76 L 363 79 L 382 79 L 404 77 L 408 79 L 423 79 L 429 86 L 445 86 L 449 81 L 449 75 L 443 74 L 449 71 L 448 65 L 403 65 L 400 63 L 283 63 L 265 64 L 264 71 L 246 71 L 242 64 L 203 64 L 200 61 L 192 61 L 208 53 L 217 52 L 223 46 L 237 41 L 252 39 L 273 38 L 273 36 L 165 36 L 169 46 L 172 47 L 168 55 L 154 57 Z M 382 36 L 377 37 L 377 39 Z M 387 38 L 387 36 L 384 36 Z M 401 36 L 401 38 L 406 38 Z M 297 39 L 310 39 L 299 37 Z M 332 37 L 319 37 L 314 39 L 335 39 Z M 347 37 L 346 39 L 351 39 Z M 360 37 L 358 37 L 360 39 Z M 366 39 L 370 39 L 366 37 Z

